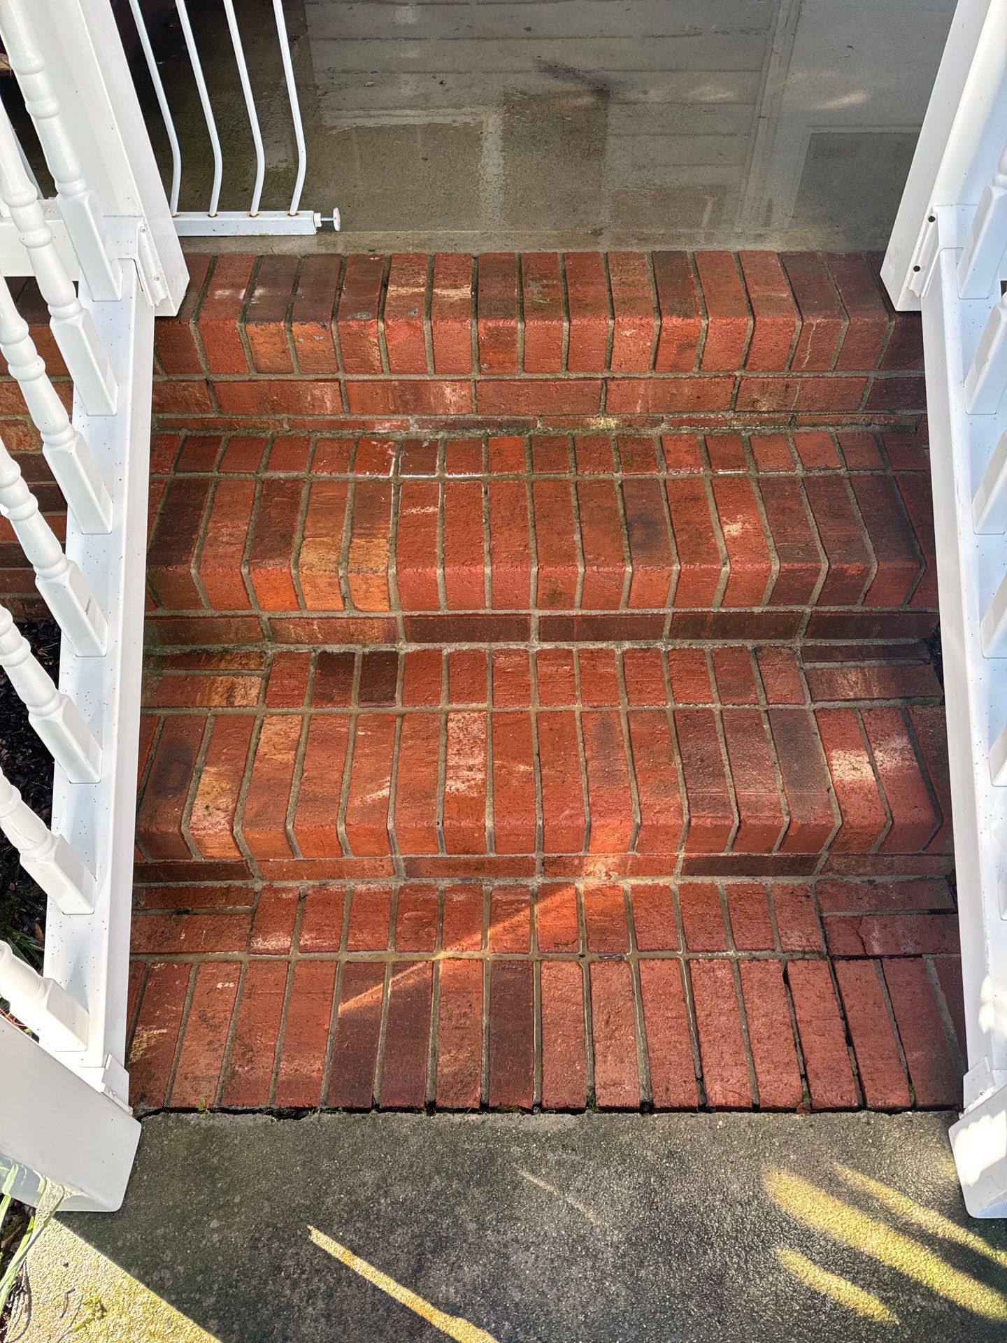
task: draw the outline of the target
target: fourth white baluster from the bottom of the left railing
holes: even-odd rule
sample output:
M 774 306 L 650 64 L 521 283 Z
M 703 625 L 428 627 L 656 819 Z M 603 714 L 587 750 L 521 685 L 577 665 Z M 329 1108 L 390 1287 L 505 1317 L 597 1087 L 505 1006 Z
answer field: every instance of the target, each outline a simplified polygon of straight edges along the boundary
M 63 553 L 56 535 L 39 512 L 21 469 L 0 439 L 0 513 L 13 528 L 35 569 L 35 587 L 56 624 L 81 657 L 101 657 L 109 623 L 81 569 Z

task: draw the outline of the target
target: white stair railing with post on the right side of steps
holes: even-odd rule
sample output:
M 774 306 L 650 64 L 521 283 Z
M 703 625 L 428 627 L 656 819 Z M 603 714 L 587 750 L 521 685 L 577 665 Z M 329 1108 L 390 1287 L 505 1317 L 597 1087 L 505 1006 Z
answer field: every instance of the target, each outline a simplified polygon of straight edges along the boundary
M 882 277 L 922 310 L 975 1217 L 1007 1217 L 1006 252 L 1007 0 L 959 0 Z

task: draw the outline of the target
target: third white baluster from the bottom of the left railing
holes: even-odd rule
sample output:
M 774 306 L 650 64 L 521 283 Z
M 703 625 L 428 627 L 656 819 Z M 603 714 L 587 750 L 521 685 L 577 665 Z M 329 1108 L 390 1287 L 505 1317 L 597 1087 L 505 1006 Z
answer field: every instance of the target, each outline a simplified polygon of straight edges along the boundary
M 0 606 L 0 666 L 28 710 L 28 723 L 71 783 L 101 779 L 102 751 L 73 700 L 56 689 L 31 645 Z

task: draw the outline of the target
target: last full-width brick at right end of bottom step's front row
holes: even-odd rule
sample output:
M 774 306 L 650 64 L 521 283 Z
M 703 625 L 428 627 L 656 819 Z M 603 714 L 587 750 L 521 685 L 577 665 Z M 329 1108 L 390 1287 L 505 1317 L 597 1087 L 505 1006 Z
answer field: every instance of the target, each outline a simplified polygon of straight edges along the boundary
M 961 1078 L 922 960 L 883 960 L 913 1096 L 920 1107 L 961 1105 Z

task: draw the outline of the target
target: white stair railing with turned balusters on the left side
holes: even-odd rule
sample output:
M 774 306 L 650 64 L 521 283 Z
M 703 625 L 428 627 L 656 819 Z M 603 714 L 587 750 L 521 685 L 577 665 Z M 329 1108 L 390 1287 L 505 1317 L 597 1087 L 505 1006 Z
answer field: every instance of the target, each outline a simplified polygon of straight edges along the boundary
M 34 275 L 67 414 L 0 278 L 0 352 L 67 505 L 60 545 L 0 439 L 0 513 L 62 631 L 59 684 L 0 607 L 0 666 L 54 763 L 46 825 L 0 774 L 0 830 L 48 898 L 43 974 L 0 943 L 0 1171 L 114 1209 L 138 1138 L 126 982 L 156 313 L 187 273 L 110 0 L 0 0 L 0 39 L 56 185 L 39 199 L 0 107 L 0 277 Z

